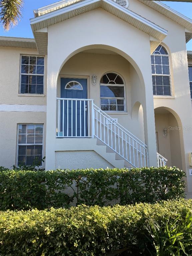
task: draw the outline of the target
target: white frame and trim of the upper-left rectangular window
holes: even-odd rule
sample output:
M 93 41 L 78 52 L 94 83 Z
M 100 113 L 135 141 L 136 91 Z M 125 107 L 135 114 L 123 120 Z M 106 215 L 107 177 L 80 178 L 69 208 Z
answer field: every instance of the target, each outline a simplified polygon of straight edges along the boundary
M 25 74 L 21 73 L 21 61 L 22 61 L 22 56 L 31 56 L 31 57 L 42 57 L 44 58 L 44 65 L 38 65 L 38 66 L 44 66 L 44 74 Z M 36 65 L 37 66 L 37 65 Z M 36 70 L 37 71 L 37 70 Z M 43 76 L 43 93 L 21 93 L 21 75 L 40 75 Z M 45 95 L 45 56 L 43 55 L 34 55 L 34 54 L 20 54 L 20 67 L 19 67 L 19 96 L 44 96 Z

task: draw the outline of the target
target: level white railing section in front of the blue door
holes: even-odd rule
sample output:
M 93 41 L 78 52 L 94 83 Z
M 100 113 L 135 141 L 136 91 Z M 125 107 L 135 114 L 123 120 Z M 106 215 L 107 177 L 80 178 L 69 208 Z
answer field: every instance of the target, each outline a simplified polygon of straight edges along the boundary
M 93 138 L 93 112 L 92 99 L 57 98 L 56 137 Z

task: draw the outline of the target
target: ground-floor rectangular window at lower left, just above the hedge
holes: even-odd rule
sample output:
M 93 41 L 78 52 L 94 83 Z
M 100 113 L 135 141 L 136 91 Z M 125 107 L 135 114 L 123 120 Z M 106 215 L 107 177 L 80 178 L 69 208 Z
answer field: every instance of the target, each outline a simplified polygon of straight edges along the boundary
M 17 165 L 41 165 L 43 150 L 43 124 L 18 124 Z

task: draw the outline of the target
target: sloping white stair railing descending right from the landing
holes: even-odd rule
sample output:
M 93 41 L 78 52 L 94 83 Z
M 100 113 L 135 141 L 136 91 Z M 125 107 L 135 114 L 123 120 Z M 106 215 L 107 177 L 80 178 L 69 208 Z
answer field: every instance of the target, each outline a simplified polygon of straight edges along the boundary
M 147 145 L 94 104 L 95 137 L 134 167 L 148 166 Z

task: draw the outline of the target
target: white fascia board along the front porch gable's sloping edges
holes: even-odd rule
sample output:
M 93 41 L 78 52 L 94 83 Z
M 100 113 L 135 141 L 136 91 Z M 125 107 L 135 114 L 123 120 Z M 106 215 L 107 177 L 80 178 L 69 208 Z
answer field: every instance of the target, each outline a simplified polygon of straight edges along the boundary
M 56 17 L 58 15 L 67 13 L 69 11 L 74 11 L 75 9 L 78 9 L 80 7 L 84 7 L 84 6 L 87 6 L 89 4 L 97 3 L 97 2 L 100 2 L 100 1 L 101 0 L 85 0 L 85 1 L 73 4 L 73 5 L 61 8 L 59 10 L 56 10 L 56 11 L 53 11 L 53 12 L 50 12 L 50 13 L 46 13 L 44 15 L 32 18 L 32 19 L 30 19 L 30 23 L 31 23 L 31 25 L 33 25 L 35 23 L 42 22 L 42 21 L 50 19 L 50 18 L 54 18 L 54 17 Z M 166 29 L 161 28 L 160 26 L 156 25 L 155 23 L 153 23 L 153 22 L 143 18 L 142 16 L 134 13 L 133 11 L 131 11 L 131 10 L 129 10 L 129 9 L 127 9 L 127 8 L 117 4 L 113 0 L 102 0 L 102 1 L 105 2 L 105 3 L 110 4 L 111 6 L 115 7 L 116 9 L 118 9 L 118 10 L 120 10 L 122 12 L 124 12 L 125 14 L 131 16 L 132 18 L 137 19 L 138 21 L 142 22 L 143 24 L 145 24 L 145 25 L 147 25 L 147 26 L 157 30 L 158 32 L 160 32 L 160 33 L 162 33 L 164 35 L 167 35 L 168 31 Z

